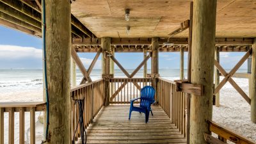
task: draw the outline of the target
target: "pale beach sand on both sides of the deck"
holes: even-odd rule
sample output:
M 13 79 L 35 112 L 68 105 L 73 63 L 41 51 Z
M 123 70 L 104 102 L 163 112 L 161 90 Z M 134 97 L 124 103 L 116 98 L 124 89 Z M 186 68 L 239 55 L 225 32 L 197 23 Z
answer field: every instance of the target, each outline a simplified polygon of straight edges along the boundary
M 223 77 L 221 77 L 223 79 Z M 248 79 L 234 78 L 239 86 L 248 94 Z M 14 101 L 41 101 L 42 89 L 29 90 L 28 92 L 12 92 L 0 95 L 0 102 L 14 102 Z M 235 132 L 256 141 L 256 124 L 250 121 L 250 105 L 236 92 L 236 90 L 229 84 L 220 91 L 219 108 L 213 106 L 212 120 L 218 124 L 224 125 Z M 36 112 L 36 118 L 40 112 Z M 29 143 L 29 113 L 26 113 L 26 143 Z M 4 115 L 4 143 L 8 143 L 8 113 Z M 41 143 L 43 139 L 43 125 L 36 122 L 36 143 Z M 19 113 L 15 113 L 15 143 L 19 143 Z

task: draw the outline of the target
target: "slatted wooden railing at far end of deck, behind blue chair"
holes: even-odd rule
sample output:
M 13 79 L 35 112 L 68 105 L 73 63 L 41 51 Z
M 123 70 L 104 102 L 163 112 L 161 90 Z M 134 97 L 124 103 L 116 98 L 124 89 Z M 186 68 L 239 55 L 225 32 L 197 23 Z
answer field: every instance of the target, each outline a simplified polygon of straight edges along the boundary
M 110 104 L 129 104 L 140 97 L 140 90 L 151 86 L 150 78 L 112 78 L 109 81 Z

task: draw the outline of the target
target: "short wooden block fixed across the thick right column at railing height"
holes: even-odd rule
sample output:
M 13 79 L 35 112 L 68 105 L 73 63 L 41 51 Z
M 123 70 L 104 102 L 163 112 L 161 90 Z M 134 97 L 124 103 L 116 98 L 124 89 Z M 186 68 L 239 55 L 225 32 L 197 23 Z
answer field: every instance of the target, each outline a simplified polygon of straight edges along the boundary
M 188 83 L 188 80 L 175 80 L 175 89 L 177 92 L 185 92 L 193 95 L 203 95 L 204 86 L 202 84 Z

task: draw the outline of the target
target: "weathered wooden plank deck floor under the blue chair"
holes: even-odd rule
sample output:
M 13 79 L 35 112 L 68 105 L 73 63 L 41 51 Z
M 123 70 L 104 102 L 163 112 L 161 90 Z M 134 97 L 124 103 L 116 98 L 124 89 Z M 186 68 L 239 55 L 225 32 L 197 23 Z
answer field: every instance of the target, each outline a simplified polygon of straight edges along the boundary
M 128 120 L 129 105 L 104 107 L 87 129 L 87 143 L 186 143 L 163 109 L 152 106 L 152 111 L 145 124 L 143 113 L 132 112 Z

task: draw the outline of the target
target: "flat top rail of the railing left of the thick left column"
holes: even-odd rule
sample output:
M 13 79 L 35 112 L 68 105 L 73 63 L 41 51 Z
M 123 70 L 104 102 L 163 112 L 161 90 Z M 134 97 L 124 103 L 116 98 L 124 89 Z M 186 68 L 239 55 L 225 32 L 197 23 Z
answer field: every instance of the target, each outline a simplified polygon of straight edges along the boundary
M 0 102 L 0 108 L 24 108 L 44 106 L 46 102 Z

